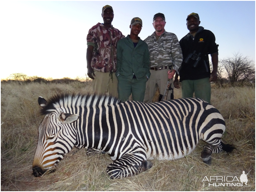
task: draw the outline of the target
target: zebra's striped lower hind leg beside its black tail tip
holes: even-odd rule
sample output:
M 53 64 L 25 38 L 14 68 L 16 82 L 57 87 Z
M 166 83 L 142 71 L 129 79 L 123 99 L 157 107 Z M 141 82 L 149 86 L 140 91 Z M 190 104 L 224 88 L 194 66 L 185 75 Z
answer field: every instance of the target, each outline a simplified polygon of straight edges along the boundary
M 220 153 L 222 151 L 221 143 L 218 145 L 205 145 L 201 153 L 201 158 L 205 164 L 212 164 L 212 153 Z

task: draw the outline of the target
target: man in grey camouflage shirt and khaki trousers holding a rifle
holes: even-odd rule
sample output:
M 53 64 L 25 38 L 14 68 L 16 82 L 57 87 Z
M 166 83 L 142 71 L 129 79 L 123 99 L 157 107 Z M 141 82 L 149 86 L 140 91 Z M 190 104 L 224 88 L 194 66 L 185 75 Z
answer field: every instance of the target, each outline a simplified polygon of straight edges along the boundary
M 151 73 L 146 85 L 144 97 L 146 103 L 152 102 L 157 87 L 159 87 L 160 94 L 164 94 L 168 79 L 172 79 L 175 72 L 178 73 L 183 59 L 177 36 L 174 33 L 166 32 L 165 25 L 166 21 L 163 13 L 155 14 L 153 17 L 155 32 L 144 40 L 148 44 L 150 53 Z M 170 83 L 173 89 L 173 79 Z M 173 92 L 169 91 L 167 100 L 171 98 L 173 98 Z

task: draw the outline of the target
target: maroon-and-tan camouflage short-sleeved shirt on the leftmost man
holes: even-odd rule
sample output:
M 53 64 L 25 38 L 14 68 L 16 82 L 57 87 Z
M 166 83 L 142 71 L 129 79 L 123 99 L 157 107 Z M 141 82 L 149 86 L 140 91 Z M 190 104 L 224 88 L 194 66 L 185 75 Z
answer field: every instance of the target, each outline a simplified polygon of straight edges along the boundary
M 97 23 L 90 28 L 87 35 L 87 46 L 93 46 L 93 58 L 91 66 L 100 72 L 116 72 L 117 65 L 117 41 L 124 35 L 118 29 Z

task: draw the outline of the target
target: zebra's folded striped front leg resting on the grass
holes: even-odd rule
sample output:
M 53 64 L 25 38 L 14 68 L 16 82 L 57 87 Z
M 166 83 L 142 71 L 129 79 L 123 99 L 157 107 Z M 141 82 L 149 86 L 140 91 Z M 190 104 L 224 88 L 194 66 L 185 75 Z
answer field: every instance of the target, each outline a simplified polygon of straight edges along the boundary
M 107 173 L 111 179 L 137 175 L 152 167 L 151 161 L 145 159 L 141 159 L 141 154 L 132 153 L 123 155 L 120 159 L 108 165 Z

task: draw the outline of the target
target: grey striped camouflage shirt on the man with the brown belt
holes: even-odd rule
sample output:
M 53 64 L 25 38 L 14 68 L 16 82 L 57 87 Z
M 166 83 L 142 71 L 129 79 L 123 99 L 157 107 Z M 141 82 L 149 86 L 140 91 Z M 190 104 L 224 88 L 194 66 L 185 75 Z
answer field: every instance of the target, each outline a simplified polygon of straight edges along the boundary
M 144 40 L 148 44 L 150 67 L 173 65 L 178 73 L 183 57 L 177 36 L 165 31 L 157 40 L 155 33 Z

